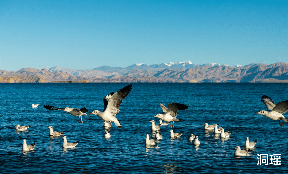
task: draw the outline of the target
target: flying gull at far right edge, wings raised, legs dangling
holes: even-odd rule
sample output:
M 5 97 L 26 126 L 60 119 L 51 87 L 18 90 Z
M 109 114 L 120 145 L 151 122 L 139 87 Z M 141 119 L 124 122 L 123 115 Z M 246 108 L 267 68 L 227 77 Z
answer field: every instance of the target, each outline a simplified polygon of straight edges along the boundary
M 284 127 L 282 120 L 288 124 L 287 119 L 282 115 L 283 113 L 288 111 L 288 100 L 279 102 L 275 105 L 275 103 L 271 100 L 270 97 L 263 95 L 261 101 L 267 106 L 267 111 L 260 111 L 256 114 L 263 115 L 271 120 L 279 120 L 280 126 Z M 280 123 L 281 121 L 281 123 Z

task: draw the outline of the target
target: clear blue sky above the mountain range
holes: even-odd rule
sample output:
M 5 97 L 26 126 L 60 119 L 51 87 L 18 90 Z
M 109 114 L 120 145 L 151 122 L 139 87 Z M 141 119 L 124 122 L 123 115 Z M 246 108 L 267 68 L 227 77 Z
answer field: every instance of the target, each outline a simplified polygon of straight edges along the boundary
M 288 1 L 0 1 L 0 68 L 288 61 Z

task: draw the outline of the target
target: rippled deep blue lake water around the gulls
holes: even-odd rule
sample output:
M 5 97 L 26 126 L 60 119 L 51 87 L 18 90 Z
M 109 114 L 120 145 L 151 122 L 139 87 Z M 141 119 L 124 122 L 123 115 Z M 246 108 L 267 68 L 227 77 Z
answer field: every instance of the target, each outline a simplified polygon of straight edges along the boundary
M 130 94 L 116 115 L 122 124 L 113 123 L 110 138 L 104 138 L 102 120 L 96 115 L 72 116 L 55 107 L 87 107 L 103 110 L 103 97 L 128 83 L 1 83 L 0 158 L 1 173 L 287 173 L 288 124 L 262 115 L 261 102 L 268 95 L 274 103 L 288 99 L 286 83 L 132 83 Z M 182 103 L 170 139 L 170 125 L 162 126 L 163 140 L 145 146 L 146 134 L 154 138 L 151 121 L 162 113 L 159 103 Z M 32 108 L 32 104 L 39 107 Z M 283 114 L 288 118 L 288 112 Z M 219 124 L 230 138 L 221 139 L 201 124 Z M 31 125 L 16 131 L 15 125 Z M 62 149 L 62 136 L 50 137 L 48 127 L 66 131 L 68 142 L 80 140 L 76 148 Z M 199 146 L 187 141 L 197 135 Z M 245 138 L 257 139 L 249 155 L 235 157 L 235 146 Z M 35 142 L 33 151 L 22 152 L 22 140 Z M 281 165 L 257 165 L 257 154 L 281 154 Z

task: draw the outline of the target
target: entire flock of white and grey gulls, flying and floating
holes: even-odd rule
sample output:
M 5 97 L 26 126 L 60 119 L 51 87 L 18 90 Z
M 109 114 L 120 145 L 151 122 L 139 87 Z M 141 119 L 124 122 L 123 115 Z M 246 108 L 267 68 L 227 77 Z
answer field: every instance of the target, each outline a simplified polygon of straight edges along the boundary
M 132 84 L 125 86 L 124 88 L 118 90 L 117 92 L 111 92 L 110 94 L 104 96 L 103 98 L 103 103 L 104 103 L 104 109 L 103 111 L 98 111 L 98 110 L 94 110 L 92 111 L 89 115 L 97 115 L 99 118 L 101 118 L 104 122 L 104 127 L 108 127 L 107 131 L 104 132 L 103 137 L 111 137 L 110 134 L 110 127 L 112 126 L 112 122 L 114 122 L 114 124 L 121 128 L 121 123 L 118 120 L 118 118 L 116 118 L 116 114 L 119 113 L 119 107 L 122 103 L 122 101 L 124 100 L 124 98 L 126 98 L 126 96 L 130 93 L 132 89 Z M 267 111 L 259 111 L 256 114 L 260 114 L 263 115 L 269 119 L 272 120 L 279 120 L 279 124 L 280 126 L 284 127 L 284 124 L 282 121 L 284 121 L 285 123 L 288 124 L 287 119 L 285 119 L 285 117 L 282 115 L 283 113 L 288 111 L 288 100 L 279 102 L 277 104 L 275 104 L 272 99 L 266 95 L 263 95 L 261 98 L 261 101 L 266 105 L 267 107 Z M 38 107 L 39 104 L 34 105 L 32 104 L 32 107 Z M 188 109 L 188 106 L 180 104 L 180 103 L 169 103 L 168 107 L 165 107 L 163 104 L 159 104 L 161 109 L 162 109 L 162 113 L 158 113 L 156 116 L 157 118 L 160 118 L 159 120 L 159 124 L 155 125 L 155 121 L 151 120 L 149 121 L 151 123 L 151 130 L 155 130 L 156 131 L 156 136 L 154 139 L 149 139 L 149 134 L 146 134 L 146 140 L 145 140 L 145 144 L 146 145 L 153 145 L 156 143 L 157 140 L 162 140 L 162 134 L 159 134 L 159 130 L 161 126 L 165 126 L 165 125 L 169 125 L 171 127 L 170 132 L 170 138 L 178 138 L 180 137 L 183 132 L 180 133 L 174 133 L 172 127 L 174 128 L 174 122 L 182 122 L 182 120 L 177 118 L 177 112 L 178 110 L 185 110 Z M 78 116 L 79 119 L 79 123 L 80 123 L 80 117 L 81 117 L 81 122 L 82 121 L 82 115 L 88 115 L 86 114 L 88 112 L 88 109 L 86 107 L 82 107 L 80 109 L 76 109 L 76 108 L 69 108 L 69 107 L 64 107 L 64 108 L 58 108 L 58 107 L 54 107 L 54 106 L 50 106 L 50 105 L 43 105 L 44 108 L 49 109 L 49 110 L 63 110 L 68 112 L 69 114 L 73 115 L 73 116 Z M 166 122 L 163 122 L 166 121 Z M 213 125 L 208 125 L 208 123 L 204 123 L 202 124 L 204 125 L 204 130 L 213 130 L 214 134 L 220 134 L 221 138 L 228 138 L 231 135 L 231 131 L 229 129 L 228 132 L 225 132 L 223 126 L 218 128 L 219 124 L 213 124 Z M 31 126 L 20 126 L 20 125 L 16 125 L 16 130 L 25 130 L 28 129 Z M 58 131 L 55 132 L 53 131 L 53 127 L 49 126 L 48 129 L 50 129 L 50 136 L 63 136 L 63 133 L 65 131 Z M 67 137 L 63 136 L 63 148 L 73 148 L 75 146 L 77 146 L 77 144 L 79 144 L 79 141 L 73 142 L 73 143 L 68 143 L 67 142 Z M 200 144 L 200 141 L 198 139 L 198 136 L 195 136 L 193 134 L 190 134 L 187 138 L 188 141 L 192 142 L 192 144 Z M 255 144 L 257 143 L 257 140 L 255 140 L 254 142 L 249 142 L 249 137 L 246 137 L 245 139 L 245 143 L 244 143 L 244 149 L 241 150 L 240 146 L 236 146 L 234 147 L 235 151 L 234 151 L 234 155 L 235 156 L 245 156 L 247 153 L 249 153 L 251 148 L 255 147 Z M 23 146 L 22 146 L 22 151 L 29 151 L 29 150 L 33 150 L 35 148 L 35 143 L 34 144 L 30 144 L 27 145 L 27 142 L 25 139 L 23 139 Z

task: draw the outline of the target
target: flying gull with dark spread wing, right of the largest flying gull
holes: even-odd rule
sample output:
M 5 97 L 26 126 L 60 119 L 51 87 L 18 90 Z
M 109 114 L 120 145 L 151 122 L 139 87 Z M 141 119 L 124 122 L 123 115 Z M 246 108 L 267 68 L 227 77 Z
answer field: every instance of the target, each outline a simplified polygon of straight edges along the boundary
M 162 104 L 160 103 L 159 105 L 161 106 Z M 183 105 L 180 103 L 169 103 L 166 113 L 163 112 L 164 114 L 157 114 L 154 117 L 160 118 L 163 121 L 171 122 L 170 127 L 172 128 L 172 126 L 173 126 L 173 128 L 174 128 L 174 121 L 182 122 L 182 120 L 176 118 L 177 117 L 177 111 L 178 110 L 185 110 L 187 108 L 188 107 L 186 105 Z M 173 125 L 172 125 L 172 122 L 173 122 Z

